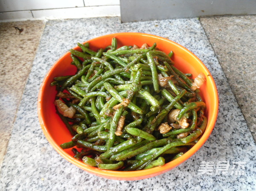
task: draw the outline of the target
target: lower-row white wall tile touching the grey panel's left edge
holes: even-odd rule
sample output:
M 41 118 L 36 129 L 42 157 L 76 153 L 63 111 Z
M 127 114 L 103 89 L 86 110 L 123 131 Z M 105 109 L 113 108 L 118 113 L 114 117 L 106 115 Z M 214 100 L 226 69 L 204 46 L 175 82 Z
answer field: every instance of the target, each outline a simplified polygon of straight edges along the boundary
M 46 9 L 32 11 L 32 13 L 36 18 L 46 17 L 47 19 L 120 16 L 120 6 Z

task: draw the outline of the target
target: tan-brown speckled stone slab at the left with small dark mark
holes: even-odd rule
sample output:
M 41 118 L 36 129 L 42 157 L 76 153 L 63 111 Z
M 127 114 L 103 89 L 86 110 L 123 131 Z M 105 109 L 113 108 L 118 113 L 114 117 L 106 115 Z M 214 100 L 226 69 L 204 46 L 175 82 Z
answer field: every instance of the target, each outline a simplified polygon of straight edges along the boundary
M 41 20 L 0 23 L 0 166 L 43 28 Z

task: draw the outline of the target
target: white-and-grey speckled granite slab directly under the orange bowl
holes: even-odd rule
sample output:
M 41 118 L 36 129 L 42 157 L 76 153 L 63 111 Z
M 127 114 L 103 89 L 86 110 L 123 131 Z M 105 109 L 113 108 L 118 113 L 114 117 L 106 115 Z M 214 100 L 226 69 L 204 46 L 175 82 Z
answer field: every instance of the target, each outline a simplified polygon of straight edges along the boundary
M 167 37 L 191 50 L 212 73 L 220 102 L 215 128 L 195 155 L 165 174 L 138 181 L 99 178 L 67 162 L 47 142 L 37 117 L 36 102 L 40 84 L 58 57 L 77 42 L 124 31 Z M 122 24 L 119 17 L 52 20 L 47 22 L 44 29 L 17 112 L 0 171 L 0 188 L 6 191 L 253 191 L 256 187 L 255 150 L 253 137 L 198 19 Z M 202 161 L 215 162 L 212 175 L 198 174 Z M 245 174 L 216 174 L 216 165 L 221 161 L 230 164 L 245 162 Z

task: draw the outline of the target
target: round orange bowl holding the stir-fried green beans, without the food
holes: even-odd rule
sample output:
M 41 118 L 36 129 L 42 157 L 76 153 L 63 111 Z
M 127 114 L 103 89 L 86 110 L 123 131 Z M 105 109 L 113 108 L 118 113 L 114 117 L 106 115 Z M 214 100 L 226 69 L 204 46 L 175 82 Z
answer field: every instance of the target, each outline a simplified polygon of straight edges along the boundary
M 175 62 L 175 67 L 183 71 L 184 73 L 192 73 L 195 78 L 199 73 L 204 73 L 207 77 L 206 83 L 201 86 L 201 96 L 204 102 L 207 105 L 205 115 L 208 119 L 207 128 L 202 135 L 201 139 L 196 143 L 189 151 L 183 154 L 181 157 L 166 163 L 161 167 L 155 167 L 147 170 L 140 171 L 111 171 L 111 170 L 101 170 L 96 167 L 91 167 L 83 162 L 76 160 L 73 157 L 71 149 L 63 150 L 59 145 L 71 140 L 70 132 L 65 127 L 64 123 L 58 117 L 55 112 L 55 95 L 57 91 L 55 86 L 50 86 L 50 83 L 53 81 L 54 77 L 62 75 L 75 74 L 76 67 L 70 65 L 71 58 L 70 53 L 67 52 L 64 54 L 57 62 L 52 66 L 52 68 L 47 73 L 44 81 L 41 85 L 41 89 L 38 97 L 38 116 L 39 121 L 49 143 L 53 148 L 66 160 L 78 166 L 79 168 L 87 171 L 91 174 L 97 175 L 99 177 L 109 178 L 113 180 L 141 180 L 149 177 L 154 177 L 159 174 L 163 174 L 167 171 L 170 171 L 172 168 L 175 168 L 177 165 L 180 165 L 182 162 L 187 160 L 199 148 L 206 142 L 209 135 L 214 128 L 217 114 L 218 114 L 218 93 L 215 86 L 215 82 L 210 74 L 209 70 L 204 66 L 201 60 L 198 59 L 191 51 L 187 50 L 179 44 L 165 39 L 163 37 L 158 37 L 151 34 L 143 33 L 116 33 L 108 34 L 105 36 L 97 37 L 92 40 L 88 40 L 90 43 L 90 48 L 94 51 L 99 48 L 105 48 L 108 45 L 111 45 L 111 40 L 113 37 L 116 37 L 118 40 L 118 46 L 130 45 L 133 46 L 142 46 L 144 43 L 147 43 L 149 46 L 152 46 L 154 43 L 157 43 L 157 47 L 168 54 L 170 51 L 174 52 L 172 60 Z M 80 50 L 77 46 L 74 49 Z

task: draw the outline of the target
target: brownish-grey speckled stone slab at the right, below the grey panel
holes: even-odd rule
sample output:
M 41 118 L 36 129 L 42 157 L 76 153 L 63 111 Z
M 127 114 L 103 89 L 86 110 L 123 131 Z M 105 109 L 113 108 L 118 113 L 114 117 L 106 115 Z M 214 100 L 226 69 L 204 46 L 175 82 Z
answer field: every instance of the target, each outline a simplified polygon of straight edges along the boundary
M 200 20 L 256 140 L 256 15 Z

